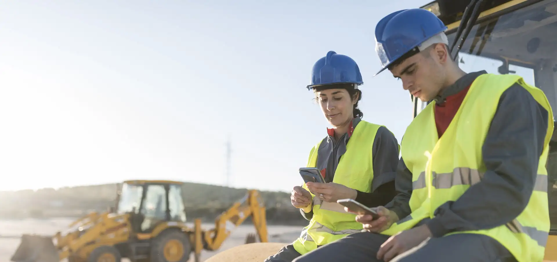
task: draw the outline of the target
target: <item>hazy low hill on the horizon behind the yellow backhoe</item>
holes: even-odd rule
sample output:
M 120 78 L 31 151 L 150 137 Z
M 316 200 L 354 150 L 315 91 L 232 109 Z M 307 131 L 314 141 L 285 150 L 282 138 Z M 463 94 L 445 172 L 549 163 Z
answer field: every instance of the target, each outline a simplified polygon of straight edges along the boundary
M 105 211 L 114 206 L 118 184 L 62 187 L 60 189 L 0 191 L 0 218 L 77 217 L 91 211 Z M 184 183 L 182 194 L 188 220 L 201 217 L 214 220 L 247 189 Z M 260 191 L 267 207 L 267 220 L 275 224 L 306 224 L 286 192 Z

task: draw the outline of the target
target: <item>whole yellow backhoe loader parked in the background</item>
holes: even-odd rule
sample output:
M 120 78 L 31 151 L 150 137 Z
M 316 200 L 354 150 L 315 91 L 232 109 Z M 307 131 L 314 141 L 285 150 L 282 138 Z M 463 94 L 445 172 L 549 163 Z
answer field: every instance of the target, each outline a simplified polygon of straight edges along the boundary
M 259 240 L 267 242 L 265 206 L 256 190 L 219 215 L 215 227 L 185 224 L 182 182 L 124 181 L 114 209 L 93 212 L 54 236 L 23 235 L 14 262 L 185 262 L 203 249 L 217 250 L 231 231 L 252 217 Z M 255 241 L 251 236 L 250 242 Z

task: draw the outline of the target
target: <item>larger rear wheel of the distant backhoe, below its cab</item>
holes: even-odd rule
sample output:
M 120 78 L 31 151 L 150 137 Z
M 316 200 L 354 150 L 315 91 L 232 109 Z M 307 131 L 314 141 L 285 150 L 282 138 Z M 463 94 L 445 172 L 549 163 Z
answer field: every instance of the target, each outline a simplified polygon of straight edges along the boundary
M 186 262 L 192 245 L 186 233 L 168 230 L 160 233 L 151 244 L 151 262 Z

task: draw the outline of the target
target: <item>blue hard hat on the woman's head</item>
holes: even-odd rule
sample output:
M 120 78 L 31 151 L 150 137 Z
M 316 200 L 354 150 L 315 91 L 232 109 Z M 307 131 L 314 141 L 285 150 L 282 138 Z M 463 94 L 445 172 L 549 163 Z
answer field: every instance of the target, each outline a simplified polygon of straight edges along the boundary
M 364 82 L 361 80 L 360 68 L 352 58 L 329 51 L 326 56 L 315 62 L 311 70 L 311 83 L 307 89 L 336 83 L 361 85 Z

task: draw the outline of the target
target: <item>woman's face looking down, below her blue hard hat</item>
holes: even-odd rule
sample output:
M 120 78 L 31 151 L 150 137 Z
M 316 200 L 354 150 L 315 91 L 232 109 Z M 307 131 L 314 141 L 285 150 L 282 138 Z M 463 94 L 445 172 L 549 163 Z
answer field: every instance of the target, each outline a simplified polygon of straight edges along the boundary
M 317 91 L 316 97 L 331 126 L 343 126 L 354 118 L 354 102 L 344 88 Z

